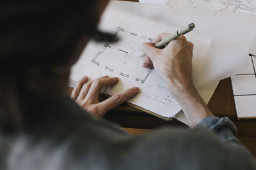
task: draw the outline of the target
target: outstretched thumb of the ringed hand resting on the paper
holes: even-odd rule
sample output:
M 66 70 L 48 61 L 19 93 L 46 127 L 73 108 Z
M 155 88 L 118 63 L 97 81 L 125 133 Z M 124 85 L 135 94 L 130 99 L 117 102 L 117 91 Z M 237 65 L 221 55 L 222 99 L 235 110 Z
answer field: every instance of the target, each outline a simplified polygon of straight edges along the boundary
M 105 101 L 102 101 L 102 103 L 99 103 L 99 107 L 107 112 L 108 110 L 115 108 L 116 106 L 124 103 L 131 97 L 135 96 L 136 94 L 138 94 L 138 92 L 140 92 L 140 89 L 138 87 L 132 87 L 131 89 L 127 89 L 120 94 L 116 94 L 112 97 L 109 97 Z

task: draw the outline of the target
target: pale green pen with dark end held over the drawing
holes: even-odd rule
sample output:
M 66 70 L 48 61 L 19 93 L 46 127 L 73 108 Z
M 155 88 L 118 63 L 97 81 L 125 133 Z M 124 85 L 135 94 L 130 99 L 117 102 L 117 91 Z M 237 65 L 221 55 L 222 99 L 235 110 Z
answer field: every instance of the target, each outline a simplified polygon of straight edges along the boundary
M 191 23 L 188 26 L 184 27 L 183 29 L 178 30 L 177 32 L 175 32 L 174 34 L 168 36 L 166 39 L 163 39 L 162 41 L 160 41 L 159 43 L 156 43 L 154 45 L 154 47 L 156 48 L 160 48 L 161 46 L 170 43 L 170 41 L 172 41 L 173 39 L 178 38 L 181 35 L 184 35 L 190 31 L 192 31 L 195 28 L 195 24 Z M 147 54 L 142 55 L 141 57 L 145 57 Z

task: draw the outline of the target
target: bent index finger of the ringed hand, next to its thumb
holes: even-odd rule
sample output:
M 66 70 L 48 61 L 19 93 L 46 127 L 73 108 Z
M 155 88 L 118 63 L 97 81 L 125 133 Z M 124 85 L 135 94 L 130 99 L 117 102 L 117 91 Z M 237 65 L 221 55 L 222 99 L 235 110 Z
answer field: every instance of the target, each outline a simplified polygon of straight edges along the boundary
M 118 82 L 118 78 L 99 78 L 92 82 L 90 90 L 86 97 L 94 100 L 98 100 L 99 93 L 102 87 L 108 87 L 110 85 L 115 85 Z

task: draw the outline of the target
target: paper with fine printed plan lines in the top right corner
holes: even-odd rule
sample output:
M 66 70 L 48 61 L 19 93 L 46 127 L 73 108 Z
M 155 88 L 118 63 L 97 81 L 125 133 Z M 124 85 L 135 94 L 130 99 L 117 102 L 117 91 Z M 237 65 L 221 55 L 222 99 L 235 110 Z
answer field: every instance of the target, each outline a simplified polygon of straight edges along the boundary
M 256 15 L 255 0 L 189 0 L 184 5 L 206 10 L 232 11 Z

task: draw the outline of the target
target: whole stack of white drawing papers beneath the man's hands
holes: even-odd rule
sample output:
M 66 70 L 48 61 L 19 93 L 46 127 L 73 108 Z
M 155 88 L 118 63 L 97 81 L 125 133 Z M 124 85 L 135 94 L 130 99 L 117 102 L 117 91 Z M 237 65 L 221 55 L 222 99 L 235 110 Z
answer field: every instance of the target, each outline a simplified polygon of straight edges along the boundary
M 256 23 L 256 20 L 253 21 Z M 115 32 L 122 40 L 117 44 L 90 42 L 73 67 L 70 78 L 77 81 L 84 74 L 90 78 L 104 74 L 118 76 L 121 81 L 111 89 L 104 89 L 104 92 L 116 94 L 138 86 L 141 93 L 129 100 L 130 103 L 162 117 L 173 117 L 180 111 L 179 104 L 154 69 L 141 67 L 143 60 L 138 54 L 143 42 L 151 41 L 161 32 L 177 31 L 191 22 L 195 22 L 196 29 L 189 32 L 187 38 L 195 44 L 192 76 L 197 88 L 204 92 L 205 85 L 243 69 L 249 60 L 246 54 L 253 36 L 241 30 L 255 34 L 255 29 L 246 27 L 246 24 L 252 23 L 252 18 L 212 11 L 170 10 L 157 4 L 112 1 L 102 17 L 100 29 Z

